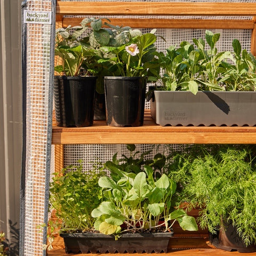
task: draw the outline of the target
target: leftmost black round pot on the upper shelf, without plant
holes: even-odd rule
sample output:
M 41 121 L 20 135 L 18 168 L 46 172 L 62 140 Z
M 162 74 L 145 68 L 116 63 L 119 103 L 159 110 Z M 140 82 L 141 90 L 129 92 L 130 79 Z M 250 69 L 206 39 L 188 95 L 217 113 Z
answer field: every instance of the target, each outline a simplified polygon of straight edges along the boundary
M 85 127 L 93 124 L 97 77 L 54 77 L 54 105 L 58 126 Z

